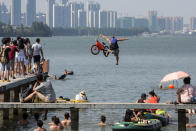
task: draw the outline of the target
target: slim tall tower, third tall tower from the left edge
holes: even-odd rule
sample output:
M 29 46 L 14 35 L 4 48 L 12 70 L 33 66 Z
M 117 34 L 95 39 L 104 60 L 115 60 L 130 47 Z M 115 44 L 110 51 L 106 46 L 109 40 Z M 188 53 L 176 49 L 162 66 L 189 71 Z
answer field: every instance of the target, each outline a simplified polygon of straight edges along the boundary
M 53 4 L 55 4 L 55 0 L 47 0 L 46 24 L 50 28 L 53 26 Z

